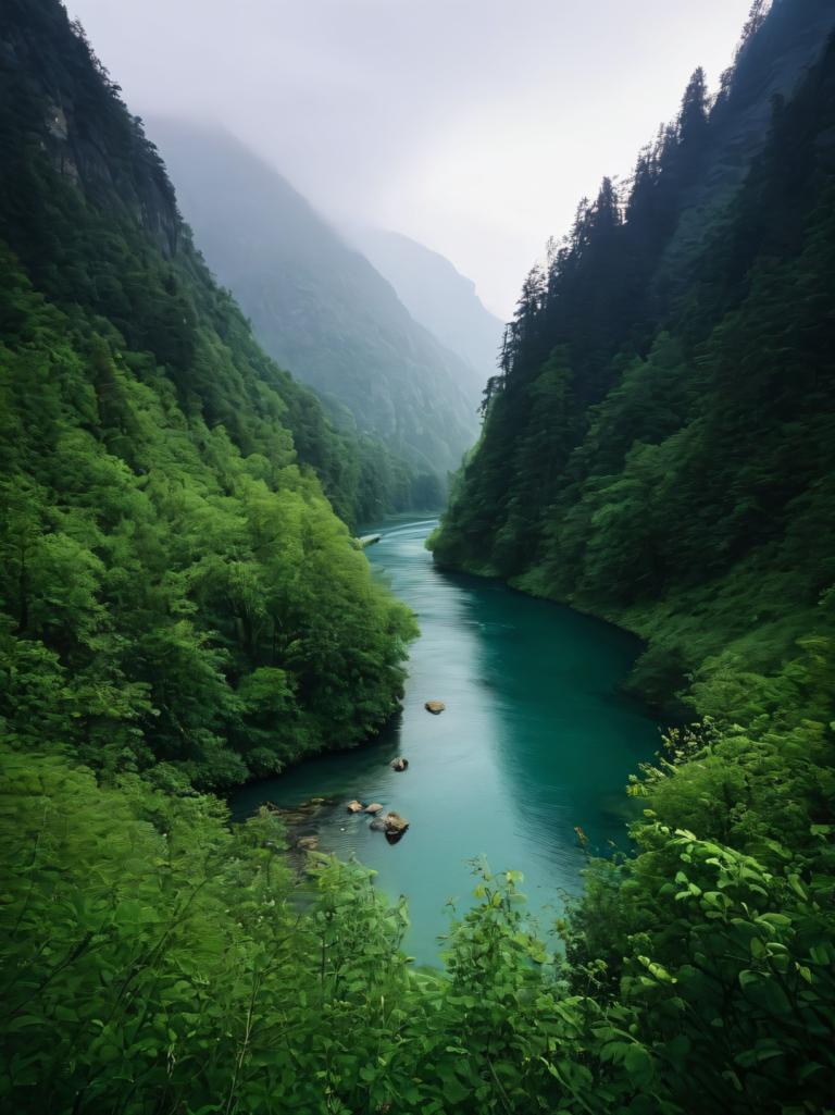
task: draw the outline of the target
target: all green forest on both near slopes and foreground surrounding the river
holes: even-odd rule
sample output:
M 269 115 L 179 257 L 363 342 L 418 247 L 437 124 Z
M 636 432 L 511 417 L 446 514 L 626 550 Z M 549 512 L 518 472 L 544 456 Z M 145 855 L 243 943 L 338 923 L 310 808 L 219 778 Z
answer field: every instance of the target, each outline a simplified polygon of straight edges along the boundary
M 729 139 L 826 4 L 755 3 L 524 284 L 435 561 L 640 634 L 671 727 L 633 852 L 540 935 L 482 866 L 443 969 L 222 796 L 398 708 L 353 533 L 437 477 L 262 352 L 58 0 L 0 10 L 3 1109 L 835 1111 L 835 39 Z

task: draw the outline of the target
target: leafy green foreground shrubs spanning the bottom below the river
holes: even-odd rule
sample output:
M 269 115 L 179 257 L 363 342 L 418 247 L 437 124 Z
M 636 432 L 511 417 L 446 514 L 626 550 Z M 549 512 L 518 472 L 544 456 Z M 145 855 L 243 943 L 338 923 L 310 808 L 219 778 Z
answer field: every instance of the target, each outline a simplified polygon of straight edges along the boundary
M 736 746 L 739 746 L 738 744 Z M 823 1111 L 835 1070 L 831 826 L 753 855 L 673 830 L 643 785 L 640 854 L 592 863 L 560 942 L 522 876 L 477 867 L 446 973 L 400 950 L 370 873 L 312 853 L 293 881 L 274 813 L 59 753 L 0 752 L 0 1094 L 19 1112 Z M 765 780 L 765 779 L 764 779 Z M 709 823 L 705 825 L 709 828 Z M 788 827 L 786 831 L 788 831 Z

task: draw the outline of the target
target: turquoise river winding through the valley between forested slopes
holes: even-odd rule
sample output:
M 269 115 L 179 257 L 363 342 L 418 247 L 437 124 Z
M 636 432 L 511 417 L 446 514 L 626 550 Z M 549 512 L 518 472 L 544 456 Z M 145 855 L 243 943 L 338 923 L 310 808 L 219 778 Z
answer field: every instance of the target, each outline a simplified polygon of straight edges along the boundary
M 494 582 L 438 572 L 424 543 L 435 521 L 375 529 L 368 558 L 417 613 L 402 712 L 360 749 L 310 760 L 280 778 L 244 787 L 236 815 L 264 801 L 295 805 L 336 796 L 319 825 L 323 850 L 356 855 L 390 896 L 409 900 L 406 941 L 419 962 L 438 958 L 448 900 L 466 909 L 469 860 L 524 873 L 523 889 L 545 927 L 561 891 L 576 891 L 589 846 L 625 846 L 623 786 L 658 746 L 647 711 L 618 691 L 638 640 L 569 608 Z M 446 702 L 433 716 L 426 700 Z M 397 755 L 404 774 L 390 769 Z M 353 797 L 380 802 L 410 822 L 390 845 Z

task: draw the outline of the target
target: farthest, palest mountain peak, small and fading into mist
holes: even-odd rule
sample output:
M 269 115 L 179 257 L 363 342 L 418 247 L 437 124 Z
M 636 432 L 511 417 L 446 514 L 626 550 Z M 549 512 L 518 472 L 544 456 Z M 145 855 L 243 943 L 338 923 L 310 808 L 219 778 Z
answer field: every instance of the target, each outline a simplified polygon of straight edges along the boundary
M 388 279 L 412 318 L 466 360 L 480 395 L 496 371 L 504 323 L 484 306 L 473 280 L 446 256 L 399 232 L 362 229 L 355 230 L 351 239 Z

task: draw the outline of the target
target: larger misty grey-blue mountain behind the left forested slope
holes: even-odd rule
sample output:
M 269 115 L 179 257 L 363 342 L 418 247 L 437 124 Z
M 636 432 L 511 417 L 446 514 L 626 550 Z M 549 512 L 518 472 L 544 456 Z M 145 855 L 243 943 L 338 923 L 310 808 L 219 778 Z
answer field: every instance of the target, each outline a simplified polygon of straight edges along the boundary
M 281 365 L 412 467 L 443 476 L 477 434 L 472 369 L 275 169 L 232 135 L 148 126 L 206 261 Z

